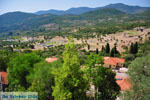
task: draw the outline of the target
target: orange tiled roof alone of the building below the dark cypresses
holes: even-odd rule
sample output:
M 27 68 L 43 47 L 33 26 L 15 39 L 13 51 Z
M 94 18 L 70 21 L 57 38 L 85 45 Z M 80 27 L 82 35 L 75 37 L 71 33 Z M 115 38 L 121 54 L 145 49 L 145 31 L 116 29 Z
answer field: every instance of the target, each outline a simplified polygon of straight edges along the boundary
M 116 65 L 117 63 L 124 63 L 125 60 L 116 57 L 104 57 L 104 64 Z

